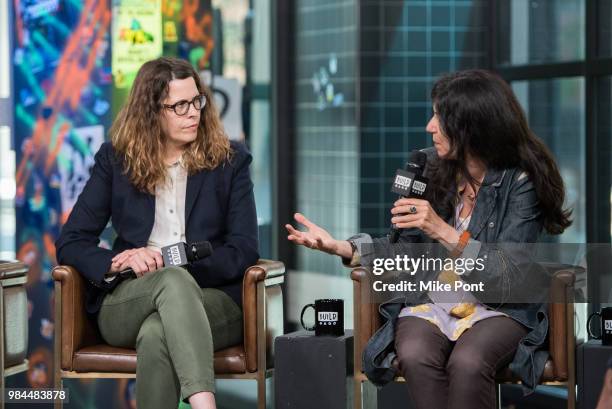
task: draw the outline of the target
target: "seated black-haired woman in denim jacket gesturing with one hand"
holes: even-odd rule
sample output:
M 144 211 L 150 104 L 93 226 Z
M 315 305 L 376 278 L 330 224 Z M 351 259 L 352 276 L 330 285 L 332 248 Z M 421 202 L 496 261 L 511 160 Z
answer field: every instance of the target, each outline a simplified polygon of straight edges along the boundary
M 446 75 L 431 97 L 434 114 L 426 129 L 434 148 L 425 150 L 427 200 L 397 200 L 391 222 L 404 229 L 399 243 L 438 242 L 455 255 L 478 256 L 486 260 L 484 271 L 466 279 L 498 283 L 499 254 L 488 252 L 487 244 L 535 243 L 543 229 L 562 233 L 571 224 L 562 207 L 563 181 L 511 88 L 497 75 L 483 70 Z M 341 256 L 352 266 L 363 256 L 363 243 L 389 245 L 386 238 L 364 234 L 336 240 L 303 215 L 295 219 L 306 231 L 287 225 L 290 241 Z M 493 408 L 495 373 L 509 363 L 527 388 L 535 387 L 547 356 L 542 304 L 492 307 L 477 298 L 441 302 L 434 295 L 395 309 L 385 324 L 393 330 L 378 331 L 370 340 L 364 368 L 374 383 L 392 379 L 381 375 L 381 369 L 393 370 L 380 356 L 390 345 L 419 409 Z

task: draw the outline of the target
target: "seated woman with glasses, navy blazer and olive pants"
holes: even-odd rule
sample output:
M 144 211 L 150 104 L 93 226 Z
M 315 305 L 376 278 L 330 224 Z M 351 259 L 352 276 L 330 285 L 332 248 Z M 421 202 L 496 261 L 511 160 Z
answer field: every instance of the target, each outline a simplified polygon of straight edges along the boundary
M 56 243 L 87 282 L 104 340 L 136 348 L 142 408 L 215 408 L 213 352 L 242 342 L 242 278 L 258 259 L 251 155 L 224 133 L 212 94 L 183 60 L 139 70 Z M 112 249 L 98 246 L 109 222 Z M 164 267 L 160 249 L 209 241 Z M 132 276 L 116 274 L 131 269 Z

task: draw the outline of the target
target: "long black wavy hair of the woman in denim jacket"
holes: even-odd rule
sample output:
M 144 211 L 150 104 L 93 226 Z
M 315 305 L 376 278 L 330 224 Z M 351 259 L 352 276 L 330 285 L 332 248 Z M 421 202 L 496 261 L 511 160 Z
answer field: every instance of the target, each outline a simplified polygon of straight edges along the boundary
M 535 186 L 544 228 L 561 234 L 572 223 L 563 208 L 565 188 L 555 160 L 529 126 L 510 86 L 498 75 L 466 70 L 441 77 L 431 99 L 450 152 L 430 172 L 432 203 L 452 214 L 461 178 L 478 185 L 467 170 L 466 158 L 480 160 L 487 169 L 519 168 Z

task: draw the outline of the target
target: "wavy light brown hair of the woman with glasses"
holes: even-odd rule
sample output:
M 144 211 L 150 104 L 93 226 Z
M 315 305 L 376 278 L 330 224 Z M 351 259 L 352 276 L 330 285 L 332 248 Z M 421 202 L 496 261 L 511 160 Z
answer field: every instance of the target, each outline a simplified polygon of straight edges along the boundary
M 123 160 L 130 182 L 138 190 L 155 194 L 155 187 L 166 181 L 166 135 L 161 125 L 163 101 L 168 96 L 170 81 L 189 77 L 206 96 L 206 106 L 200 114 L 196 139 L 187 145 L 183 154 L 188 174 L 212 170 L 231 156 L 229 139 L 212 92 L 200 82 L 194 68 L 178 58 L 148 61 L 138 70 L 127 101 L 110 129 L 113 147 Z

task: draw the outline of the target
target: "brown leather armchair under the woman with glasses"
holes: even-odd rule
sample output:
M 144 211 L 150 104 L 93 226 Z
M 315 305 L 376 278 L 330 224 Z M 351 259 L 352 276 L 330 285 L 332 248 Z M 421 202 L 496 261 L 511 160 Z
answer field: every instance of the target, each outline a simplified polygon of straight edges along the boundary
M 55 280 L 55 387 L 64 378 L 135 378 L 136 351 L 102 340 L 85 312 L 85 283 L 72 267 L 53 269 Z M 215 352 L 217 379 L 257 381 L 257 408 L 266 407 L 266 378 L 273 372 L 274 338 L 283 333 L 281 284 L 285 266 L 259 260 L 243 280 L 244 343 Z M 56 403 L 61 407 L 61 403 Z

